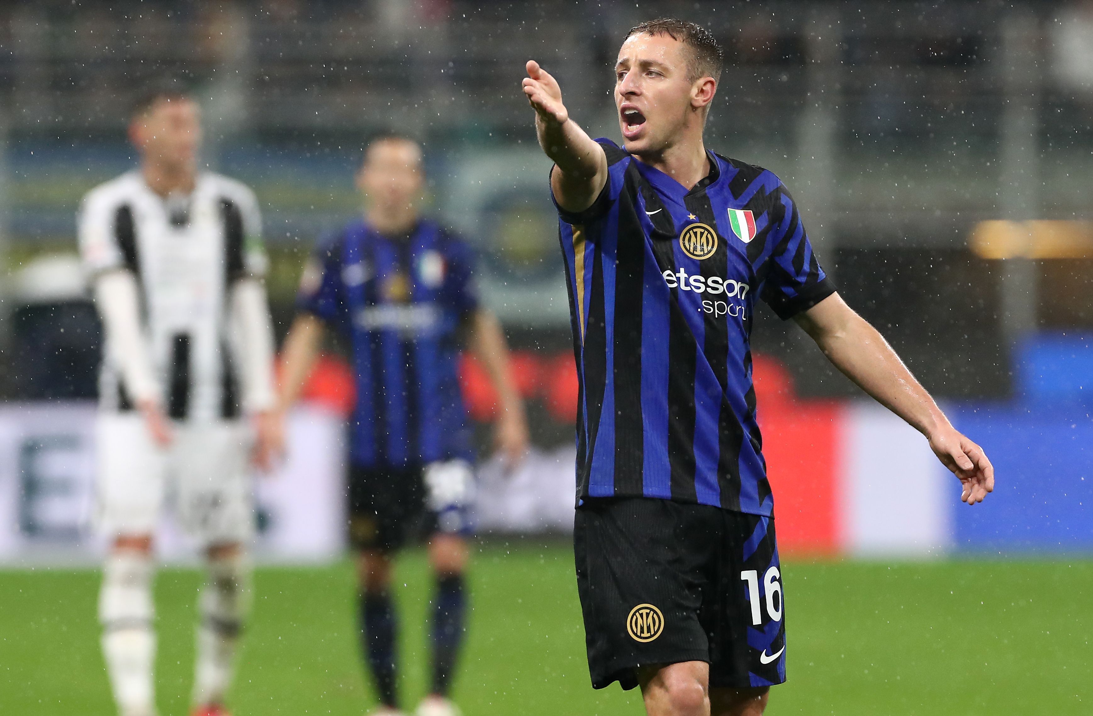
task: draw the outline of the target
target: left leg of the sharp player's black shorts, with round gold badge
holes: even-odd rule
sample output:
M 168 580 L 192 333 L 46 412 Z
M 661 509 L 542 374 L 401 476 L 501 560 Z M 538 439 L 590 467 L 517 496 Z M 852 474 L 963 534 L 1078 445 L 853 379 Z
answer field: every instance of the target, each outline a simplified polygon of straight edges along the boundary
M 642 667 L 709 660 L 694 563 L 712 541 L 696 537 L 719 528 L 717 508 L 686 507 L 642 497 L 578 507 L 574 555 L 593 686 L 628 689 Z

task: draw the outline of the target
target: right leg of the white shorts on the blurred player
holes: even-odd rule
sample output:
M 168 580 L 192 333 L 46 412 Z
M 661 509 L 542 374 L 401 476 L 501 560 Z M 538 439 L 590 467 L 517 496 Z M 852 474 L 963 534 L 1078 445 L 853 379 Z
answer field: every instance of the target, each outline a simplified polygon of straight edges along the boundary
M 203 545 L 244 542 L 254 536 L 249 433 L 242 421 L 183 425 L 176 430 L 172 468 L 178 517 Z

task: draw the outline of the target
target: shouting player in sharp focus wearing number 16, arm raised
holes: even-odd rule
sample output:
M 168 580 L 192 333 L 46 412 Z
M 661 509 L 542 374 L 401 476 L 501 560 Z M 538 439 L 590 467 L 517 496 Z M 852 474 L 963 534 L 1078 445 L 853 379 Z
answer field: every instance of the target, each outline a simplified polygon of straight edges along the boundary
M 640 685 L 650 716 L 761 714 L 786 678 L 756 297 L 921 432 L 964 502 L 994 486 L 984 451 L 835 292 L 778 177 L 706 150 L 720 73 L 703 27 L 631 30 L 615 64 L 622 148 L 589 139 L 538 63 L 524 80 L 555 162 L 580 376 L 574 541 L 592 685 Z

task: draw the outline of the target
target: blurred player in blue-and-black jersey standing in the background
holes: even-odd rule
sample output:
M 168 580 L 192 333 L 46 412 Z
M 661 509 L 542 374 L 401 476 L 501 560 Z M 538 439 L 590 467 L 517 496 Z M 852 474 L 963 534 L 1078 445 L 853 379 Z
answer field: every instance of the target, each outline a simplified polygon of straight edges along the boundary
M 367 210 L 324 240 L 304 269 L 299 314 L 285 340 L 281 409 L 297 397 L 325 327 L 352 345 L 356 407 L 350 420 L 350 540 L 359 552 L 363 650 L 381 702 L 398 711 L 391 559 L 428 539 L 436 574 L 433 674 L 418 716 L 455 716 L 448 699 L 463 634 L 470 525 L 471 436 L 457 375 L 459 339 L 485 365 L 500 400 L 496 447 L 510 463 L 528 433 L 504 334 L 478 301 L 470 249 L 421 218 L 416 142 L 372 141 L 356 176 Z

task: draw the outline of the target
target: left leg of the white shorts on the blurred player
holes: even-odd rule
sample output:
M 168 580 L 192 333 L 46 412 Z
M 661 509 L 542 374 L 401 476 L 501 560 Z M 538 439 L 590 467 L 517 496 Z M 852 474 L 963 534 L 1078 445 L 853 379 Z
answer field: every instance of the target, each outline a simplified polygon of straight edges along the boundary
M 96 523 L 110 537 L 155 531 L 166 454 L 139 413 L 102 413 L 95 424 Z

